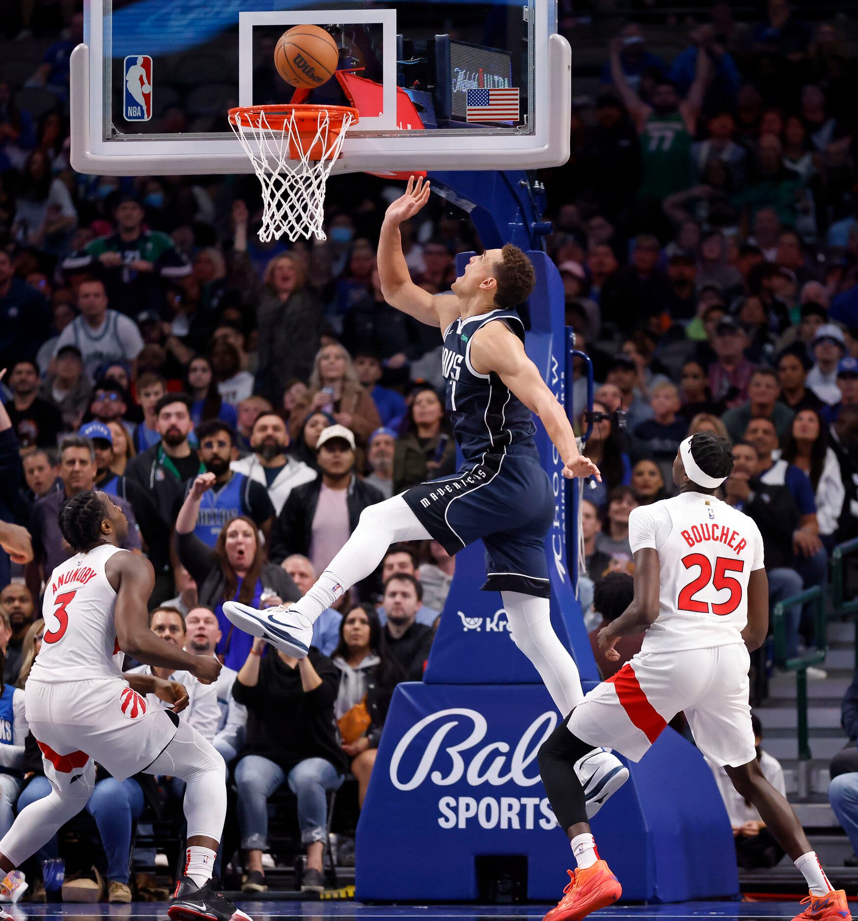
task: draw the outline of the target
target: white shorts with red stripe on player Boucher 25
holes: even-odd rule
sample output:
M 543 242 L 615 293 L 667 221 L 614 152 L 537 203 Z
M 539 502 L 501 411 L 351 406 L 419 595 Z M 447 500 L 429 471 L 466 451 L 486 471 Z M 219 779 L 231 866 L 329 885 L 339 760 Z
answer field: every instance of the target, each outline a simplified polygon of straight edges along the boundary
M 574 735 L 640 761 L 683 711 L 697 746 L 719 766 L 756 756 L 744 643 L 682 652 L 639 652 L 575 707 Z

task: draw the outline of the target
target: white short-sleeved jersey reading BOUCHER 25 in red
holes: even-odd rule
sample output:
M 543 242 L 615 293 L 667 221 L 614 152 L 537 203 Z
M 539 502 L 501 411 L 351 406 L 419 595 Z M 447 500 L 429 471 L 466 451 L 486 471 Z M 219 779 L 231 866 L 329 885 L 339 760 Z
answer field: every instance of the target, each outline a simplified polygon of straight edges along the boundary
M 742 642 L 747 581 L 763 568 L 757 525 L 704 493 L 635 508 L 629 515 L 631 552 L 658 551 L 659 614 L 641 652 L 726 646 Z

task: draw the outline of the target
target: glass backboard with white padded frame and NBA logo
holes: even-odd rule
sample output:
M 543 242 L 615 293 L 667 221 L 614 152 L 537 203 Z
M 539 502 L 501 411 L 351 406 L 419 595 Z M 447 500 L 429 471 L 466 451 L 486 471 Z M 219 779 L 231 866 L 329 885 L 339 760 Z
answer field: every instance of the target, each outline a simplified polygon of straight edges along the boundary
M 351 105 L 337 171 L 531 169 L 569 152 L 570 52 L 554 0 L 88 0 L 72 60 L 72 159 L 95 173 L 248 171 L 235 106 Z M 279 37 L 335 41 L 295 89 Z

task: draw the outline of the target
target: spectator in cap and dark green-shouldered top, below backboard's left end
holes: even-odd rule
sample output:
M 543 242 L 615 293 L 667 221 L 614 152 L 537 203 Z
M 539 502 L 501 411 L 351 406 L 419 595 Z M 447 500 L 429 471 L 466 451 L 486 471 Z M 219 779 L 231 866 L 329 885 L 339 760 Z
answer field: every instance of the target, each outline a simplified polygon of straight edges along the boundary
M 158 192 L 150 192 L 157 202 Z M 191 264 L 172 239 L 159 230 L 144 229 L 145 208 L 134 195 L 120 194 L 113 204 L 116 233 L 94 239 L 63 262 L 64 270 L 98 271 L 108 296 L 126 316 L 143 310 L 164 314 L 167 286 L 190 275 Z

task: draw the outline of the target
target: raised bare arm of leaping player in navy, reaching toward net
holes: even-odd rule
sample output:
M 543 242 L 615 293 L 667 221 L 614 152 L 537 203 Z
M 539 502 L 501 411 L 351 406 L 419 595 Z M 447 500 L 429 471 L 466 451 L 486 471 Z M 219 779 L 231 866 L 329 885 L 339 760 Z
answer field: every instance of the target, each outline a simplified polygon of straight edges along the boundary
M 431 295 L 414 284 L 402 251 L 399 226 L 429 201 L 429 181 L 408 180 L 405 194 L 388 207 L 379 237 L 379 279 L 382 295 L 391 307 L 402 310 L 427 326 L 445 330 L 459 316 L 459 298 L 454 294 Z

